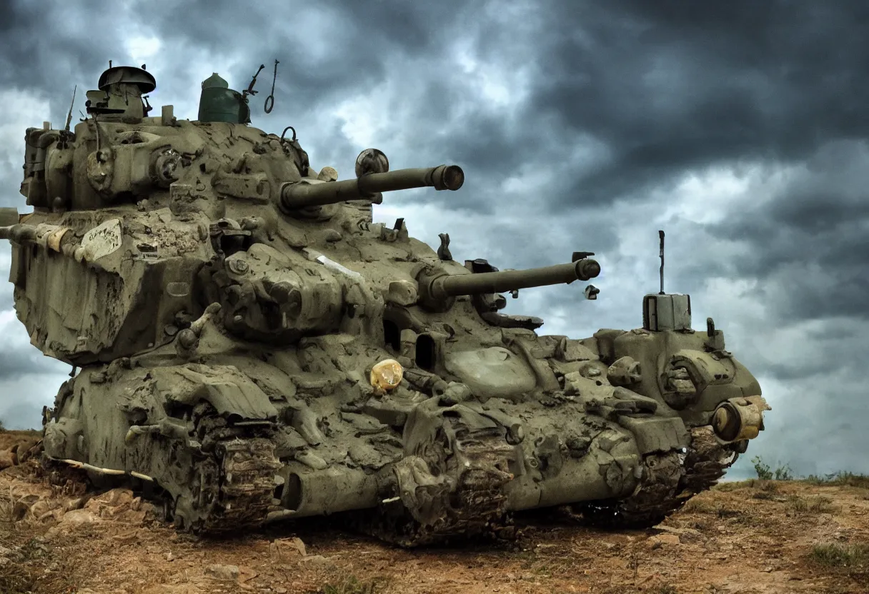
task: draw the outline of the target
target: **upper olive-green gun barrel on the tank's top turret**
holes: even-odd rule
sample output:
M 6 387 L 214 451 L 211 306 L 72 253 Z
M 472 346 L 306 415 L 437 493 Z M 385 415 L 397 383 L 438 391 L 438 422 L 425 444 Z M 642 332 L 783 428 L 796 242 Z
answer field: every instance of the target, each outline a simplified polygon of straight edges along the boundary
M 281 205 L 287 210 L 360 200 L 380 192 L 433 187 L 436 190 L 457 190 L 465 182 L 458 165 L 431 168 L 396 169 L 386 173 L 362 175 L 355 180 L 306 183 L 285 183 L 281 187 Z

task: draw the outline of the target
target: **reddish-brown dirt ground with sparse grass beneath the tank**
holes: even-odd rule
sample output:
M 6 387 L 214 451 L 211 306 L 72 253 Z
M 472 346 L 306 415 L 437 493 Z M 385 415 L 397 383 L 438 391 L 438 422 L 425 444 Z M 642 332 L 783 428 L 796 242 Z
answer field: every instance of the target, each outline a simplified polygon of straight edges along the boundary
M 0 433 L 0 452 L 21 439 Z M 869 592 L 866 478 L 726 483 L 647 531 L 537 515 L 513 543 L 406 551 L 319 519 L 193 538 L 132 492 L 39 475 L 32 461 L 0 472 L 3 593 Z

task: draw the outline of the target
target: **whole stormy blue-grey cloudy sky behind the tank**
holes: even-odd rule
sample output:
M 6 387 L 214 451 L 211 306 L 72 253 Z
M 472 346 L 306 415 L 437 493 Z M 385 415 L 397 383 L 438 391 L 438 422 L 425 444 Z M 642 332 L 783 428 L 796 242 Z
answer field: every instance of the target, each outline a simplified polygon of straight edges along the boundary
M 352 177 L 375 147 L 392 168 L 464 169 L 461 191 L 386 195 L 377 220 L 502 269 L 595 252 L 599 300 L 579 283 L 510 300 L 541 333 L 639 327 L 664 229 L 667 290 L 773 406 L 731 477 L 755 454 L 869 472 L 867 38 L 857 1 L 5 0 L 0 206 L 26 209 L 24 129 L 62 127 L 77 84 L 76 122 L 109 59 L 147 64 L 155 113 L 189 119 L 212 72 L 243 89 L 263 63 L 253 125 L 294 126 L 314 167 Z M 37 426 L 70 369 L 30 347 L 9 283 L 0 337 L 0 418 Z

